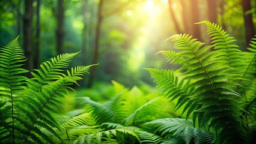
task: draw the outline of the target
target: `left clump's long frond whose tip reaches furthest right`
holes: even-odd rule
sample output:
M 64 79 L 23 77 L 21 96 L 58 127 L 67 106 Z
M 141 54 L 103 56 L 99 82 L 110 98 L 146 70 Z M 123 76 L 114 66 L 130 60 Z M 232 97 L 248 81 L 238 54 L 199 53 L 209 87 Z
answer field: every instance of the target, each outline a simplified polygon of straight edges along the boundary
M 67 90 L 71 89 L 69 85 L 81 79 L 79 76 L 82 76 L 82 74 L 88 73 L 90 66 L 76 67 L 74 68 L 75 70 L 72 68 L 72 72 L 68 72 L 68 76 L 63 75 L 64 77 L 56 80 L 56 82 L 44 85 L 41 87 L 41 91 L 31 89 L 29 85 L 32 85 L 33 82 L 28 81 L 28 87 L 25 87 L 27 96 L 17 106 L 22 113 L 19 113 L 19 116 L 16 118 L 23 125 L 21 129 L 28 130 L 26 133 L 22 133 L 24 131 L 21 131 L 21 134 L 25 135 L 23 142 L 36 142 L 36 139 L 40 139 L 41 142 L 43 140 L 53 142 L 51 137 L 42 134 L 41 128 L 44 128 L 44 131 L 53 134 L 53 136 L 61 140 L 61 137 L 56 132 L 56 130 L 61 131 L 61 128 L 52 114 L 61 112 L 61 106 L 63 106 L 62 101 L 67 95 Z

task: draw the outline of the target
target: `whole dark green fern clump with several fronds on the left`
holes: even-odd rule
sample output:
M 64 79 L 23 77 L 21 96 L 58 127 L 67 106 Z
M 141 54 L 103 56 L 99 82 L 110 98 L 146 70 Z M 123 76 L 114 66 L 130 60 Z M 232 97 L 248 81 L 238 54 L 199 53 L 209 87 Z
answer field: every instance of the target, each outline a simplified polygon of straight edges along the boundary
M 1 143 L 55 143 L 61 139 L 61 127 L 55 115 L 61 113 L 70 85 L 88 73 L 89 66 L 67 70 L 78 53 L 58 55 L 43 62 L 40 70 L 31 71 L 28 79 L 22 67 L 26 61 L 17 41 L 10 41 L 0 54 Z

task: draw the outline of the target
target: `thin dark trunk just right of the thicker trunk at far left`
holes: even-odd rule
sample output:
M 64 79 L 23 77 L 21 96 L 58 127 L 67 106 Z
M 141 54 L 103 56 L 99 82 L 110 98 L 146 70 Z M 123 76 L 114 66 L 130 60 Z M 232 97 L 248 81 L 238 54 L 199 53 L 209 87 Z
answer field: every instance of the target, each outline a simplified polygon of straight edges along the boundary
M 37 0 L 36 15 L 37 15 L 37 20 L 36 20 L 36 31 L 35 31 L 34 68 L 38 68 L 38 65 L 40 62 L 40 0 Z

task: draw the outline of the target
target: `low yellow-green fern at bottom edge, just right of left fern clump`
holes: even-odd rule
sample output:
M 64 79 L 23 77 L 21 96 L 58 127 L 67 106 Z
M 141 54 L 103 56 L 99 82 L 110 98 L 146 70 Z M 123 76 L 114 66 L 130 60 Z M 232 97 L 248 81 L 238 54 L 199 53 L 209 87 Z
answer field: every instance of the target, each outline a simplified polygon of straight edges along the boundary
M 94 121 L 92 112 L 84 113 L 65 122 L 61 125 L 66 134 L 64 140 L 73 143 L 115 143 L 120 137 L 117 135 L 122 133 L 139 140 L 139 137 L 131 130 L 121 127 L 105 130 L 101 125 L 95 125 L 93 122 L 96 121 Z

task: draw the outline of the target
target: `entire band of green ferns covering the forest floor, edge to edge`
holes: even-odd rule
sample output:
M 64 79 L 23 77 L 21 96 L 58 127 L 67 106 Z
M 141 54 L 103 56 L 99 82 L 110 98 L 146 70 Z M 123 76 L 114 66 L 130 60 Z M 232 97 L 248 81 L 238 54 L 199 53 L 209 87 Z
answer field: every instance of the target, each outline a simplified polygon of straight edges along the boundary
M 212 45 L 173 35 L 178 52 L 159 53 L 180 68 L 146 68 L 163 92 L 112 81 L 68 94 L 92 65 L 64 71 L 78 55 L 67 53 L 28 79 L 10 41 L 0 53 L 0 143 L 255 143 L 256 41 L 242 52 L 219 25 L 201 23 Z

